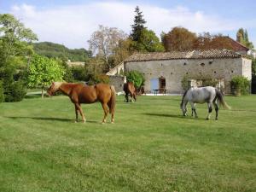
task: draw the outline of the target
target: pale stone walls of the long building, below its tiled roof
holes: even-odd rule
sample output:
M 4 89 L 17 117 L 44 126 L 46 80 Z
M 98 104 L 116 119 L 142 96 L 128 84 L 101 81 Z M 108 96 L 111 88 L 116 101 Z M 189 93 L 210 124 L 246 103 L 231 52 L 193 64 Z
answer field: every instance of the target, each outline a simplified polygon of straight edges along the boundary
M 224 79 L 224 91 L 229 94 L 233 76 L 244 75 L 251 79 L 251 60 L 241 57 L 125 62 L 125 72 L 131 70 L 143 73 L 146 92 L 151 91 L 150 79 L 163 77 L 168 93 L 182 93 L 181 81 L 188 75 L 191 79 Z

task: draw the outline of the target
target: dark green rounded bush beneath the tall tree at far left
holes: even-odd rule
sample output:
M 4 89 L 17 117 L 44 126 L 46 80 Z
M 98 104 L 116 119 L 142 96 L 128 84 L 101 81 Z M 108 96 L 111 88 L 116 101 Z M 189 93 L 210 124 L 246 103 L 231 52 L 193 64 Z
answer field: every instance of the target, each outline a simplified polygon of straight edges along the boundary
M 20 102 L 26 96 L 26 87 L 22 81 L 8 84 L 4 90 L 5 102 Z

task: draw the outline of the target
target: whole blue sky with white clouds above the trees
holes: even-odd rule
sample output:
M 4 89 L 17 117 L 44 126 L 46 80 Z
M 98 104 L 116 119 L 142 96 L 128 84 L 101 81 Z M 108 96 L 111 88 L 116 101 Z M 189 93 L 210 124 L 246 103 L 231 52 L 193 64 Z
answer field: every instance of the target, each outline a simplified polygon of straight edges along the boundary
M 99 25 L 130 34 L 136 6 L 158 37 L 183 26 L 197 34 L 222 33 L 236 39 L 242 27 L 256 47 L 255 0 L 0 0 L 0 14 L 15 15 L 38 35 L 39 42 L 88 49 L 88 40 Z

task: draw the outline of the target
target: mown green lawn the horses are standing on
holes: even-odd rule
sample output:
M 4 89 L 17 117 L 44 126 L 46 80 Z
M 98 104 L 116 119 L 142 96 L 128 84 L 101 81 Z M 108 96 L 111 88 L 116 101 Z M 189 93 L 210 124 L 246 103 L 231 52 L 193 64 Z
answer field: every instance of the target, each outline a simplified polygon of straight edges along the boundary
M 256 96 L 225 98 L 207 121 L 180 96 L 119 96 L 113 125 L 99 103 L 73 123 L 66 96 L 0 103 L 0 191 L 256 191 Z

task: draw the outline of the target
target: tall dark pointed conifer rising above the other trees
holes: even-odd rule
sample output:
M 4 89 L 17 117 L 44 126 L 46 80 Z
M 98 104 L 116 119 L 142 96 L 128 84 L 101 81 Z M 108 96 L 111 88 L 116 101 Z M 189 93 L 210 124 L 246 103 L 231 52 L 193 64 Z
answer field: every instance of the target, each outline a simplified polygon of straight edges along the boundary
M 144 24 L 146 21 L 143 19 L 143 12 L 140 11 L 139 7 L 137 6 L 135 9 L 135 18 L 134 18 L 134 24 L 131 25 L 132 32 L 131 32 L 131 39 L 133 41 L 140 41 L 143 29 L 146 29 Z

